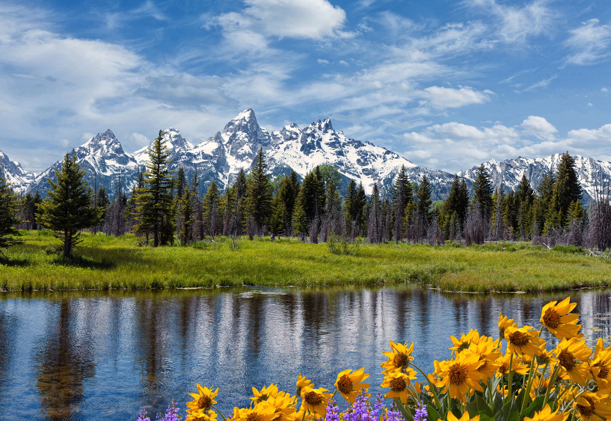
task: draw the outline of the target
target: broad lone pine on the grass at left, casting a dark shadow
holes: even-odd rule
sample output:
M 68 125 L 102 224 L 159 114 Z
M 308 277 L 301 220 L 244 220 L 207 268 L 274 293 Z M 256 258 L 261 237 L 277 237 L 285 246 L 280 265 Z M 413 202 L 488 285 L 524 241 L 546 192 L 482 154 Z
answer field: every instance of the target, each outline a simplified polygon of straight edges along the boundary
M 75 155 L 66 154 L 55 171 L 56 182 L 48 179 L 48 197 L 38 205 L 40 225 L 62 240 L 65 257 L 71 256 L 73 247 L 81 242 L 79 231 L 98 223 L 91 206 L 93 193 L 82 178 L 84 174 Z

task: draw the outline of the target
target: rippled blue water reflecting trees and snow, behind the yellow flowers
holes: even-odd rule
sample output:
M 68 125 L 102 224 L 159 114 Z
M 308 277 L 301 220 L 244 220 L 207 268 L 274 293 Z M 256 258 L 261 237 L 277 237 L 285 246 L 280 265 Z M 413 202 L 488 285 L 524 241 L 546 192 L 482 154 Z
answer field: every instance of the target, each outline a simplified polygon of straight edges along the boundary
M 609 338 L 611 291 L 572 296 L 587 340 Z M 4 294 L 0 420 L 135 420 L 171 398 L 184 409 L 196 382 L 220 386 L 229 412 L 251 386 L 294 393 L 299 371 L 332 389 L 338 371 L 365 367 L 376 390 L 389 340 L 415 341 L 415 362 L 431 371 L 449 335 L 497 336 L 499 311 L 539 326 L 543 304 L 563 297 L 410 286 Z

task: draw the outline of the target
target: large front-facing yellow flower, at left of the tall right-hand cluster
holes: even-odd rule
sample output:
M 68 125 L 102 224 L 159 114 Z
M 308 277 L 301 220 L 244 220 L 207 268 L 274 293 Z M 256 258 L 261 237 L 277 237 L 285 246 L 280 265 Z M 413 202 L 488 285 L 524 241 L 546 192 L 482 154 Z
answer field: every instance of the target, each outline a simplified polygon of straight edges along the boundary
M 442 393 L 448 393 L 450 398 L 465 401 L 466 394 L 471 389 L 483 392 L 480 381 L 486 379 L 486 374 L 478 371 L 485 363 L 480 356 L 469 350 L 464 350 L 455 359 L 435 361 L 435 374 L 441 377 L 438 387 L 444 387 Z

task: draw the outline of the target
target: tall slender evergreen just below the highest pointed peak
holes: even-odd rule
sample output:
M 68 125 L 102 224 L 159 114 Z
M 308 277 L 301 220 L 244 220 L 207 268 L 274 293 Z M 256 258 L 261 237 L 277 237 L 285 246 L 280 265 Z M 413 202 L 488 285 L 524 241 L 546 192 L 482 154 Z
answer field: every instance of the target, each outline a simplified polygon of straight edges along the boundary
M 263 148 L 259 149 L 255 165 L 252 167 L 251 177 L 247 182 L 246 210 L 255 223 L 256 229 L 265 231 L 271 217 L 271 184 L 269 176 L 265 173 L 267 163 Z

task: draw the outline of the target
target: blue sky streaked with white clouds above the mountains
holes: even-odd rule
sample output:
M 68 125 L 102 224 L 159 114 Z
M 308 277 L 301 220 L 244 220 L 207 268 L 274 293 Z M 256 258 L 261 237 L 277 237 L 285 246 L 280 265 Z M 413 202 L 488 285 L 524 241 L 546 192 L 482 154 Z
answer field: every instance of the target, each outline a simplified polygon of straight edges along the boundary
M 245 108 L 455 172 L 611 160 L 607 1 L 0 2 L 0 149 L 40 171 L 111 129 L 191 143 Z

